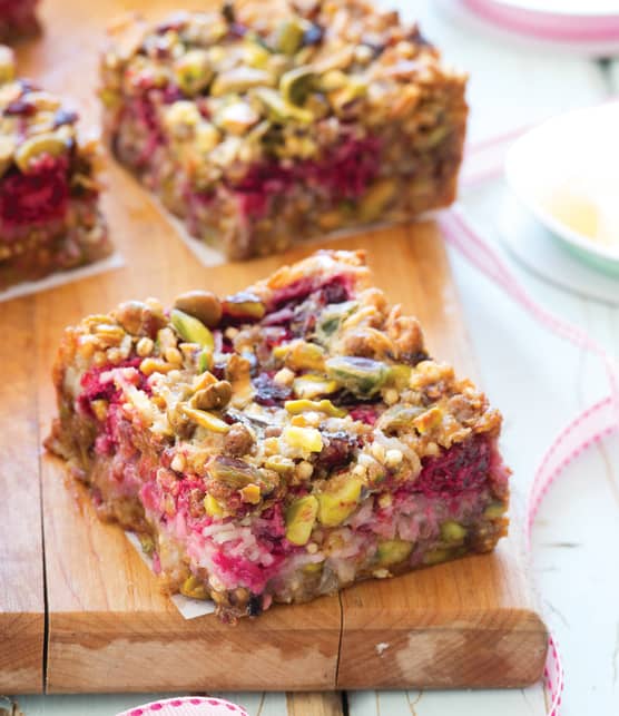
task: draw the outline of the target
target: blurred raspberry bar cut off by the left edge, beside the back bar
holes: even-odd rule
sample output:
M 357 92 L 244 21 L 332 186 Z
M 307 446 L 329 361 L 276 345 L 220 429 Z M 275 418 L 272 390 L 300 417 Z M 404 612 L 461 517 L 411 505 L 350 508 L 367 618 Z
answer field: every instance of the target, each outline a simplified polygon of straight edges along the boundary
M 14 78 L 0 46 L 0 291 L 111 253 L 98 210 L 98 143 L 77 115 Z

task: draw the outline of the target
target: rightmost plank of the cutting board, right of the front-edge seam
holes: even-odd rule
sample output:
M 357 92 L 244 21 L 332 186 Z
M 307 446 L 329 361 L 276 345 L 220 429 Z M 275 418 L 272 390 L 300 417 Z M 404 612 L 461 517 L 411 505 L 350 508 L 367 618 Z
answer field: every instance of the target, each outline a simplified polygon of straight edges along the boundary
M 420 235 L 415 225 L 407 232 L 416 241 L 399 249 L 396 263 L 379 264 L 377 275 L 385 277 L 379 285 L 389 285 L 390 297 L 419 315 L 432 354 L 473 375 L 440 237 Z M 512 687 L 537 680 L 547 634 L 524 573 L 521 523 L 513 520 L 492 555 L 406 575 L 396 587 L 373 580 L 342 592 L 337 686 Z

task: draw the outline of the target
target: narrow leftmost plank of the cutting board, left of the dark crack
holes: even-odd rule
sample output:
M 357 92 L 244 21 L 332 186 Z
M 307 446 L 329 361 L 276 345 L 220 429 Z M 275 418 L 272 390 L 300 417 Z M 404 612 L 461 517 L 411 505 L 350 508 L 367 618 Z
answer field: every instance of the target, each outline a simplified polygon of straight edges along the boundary
M 31 303 L 0 316 L 0 693 L 10 694 L 43 684 L 43 552 Z

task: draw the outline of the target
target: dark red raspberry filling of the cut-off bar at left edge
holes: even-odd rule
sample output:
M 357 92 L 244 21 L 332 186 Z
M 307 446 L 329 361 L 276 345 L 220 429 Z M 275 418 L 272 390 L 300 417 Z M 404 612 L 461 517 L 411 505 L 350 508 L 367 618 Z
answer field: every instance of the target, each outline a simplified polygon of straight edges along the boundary
M 69 200 L 68 159 L 45 155 L 28 174 L 0 184 L 0 224 L 8 228 L 62 218 Z

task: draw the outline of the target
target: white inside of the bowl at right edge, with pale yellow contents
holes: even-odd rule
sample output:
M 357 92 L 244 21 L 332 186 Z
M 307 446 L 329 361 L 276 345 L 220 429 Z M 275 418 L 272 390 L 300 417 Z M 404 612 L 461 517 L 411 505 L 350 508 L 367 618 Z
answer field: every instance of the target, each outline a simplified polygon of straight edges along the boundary
M 508 150 L 505 178 L 566 247 L 619 273 L 619 102 L 531 129 Z

